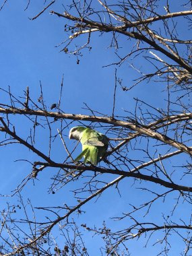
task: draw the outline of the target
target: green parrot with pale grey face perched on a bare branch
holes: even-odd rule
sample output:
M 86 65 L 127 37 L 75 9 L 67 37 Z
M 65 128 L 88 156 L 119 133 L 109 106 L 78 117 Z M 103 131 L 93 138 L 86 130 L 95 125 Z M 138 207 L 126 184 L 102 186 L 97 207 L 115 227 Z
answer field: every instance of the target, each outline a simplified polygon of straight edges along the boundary
M 69 131 L 69 139 L 76 139 L 82 143 L 82 153 L 75 158 L 79 161 L 84 157 L 84 163 L 97 165 L 106 154 L 108 137 L 94 129 L 76 126 Z

